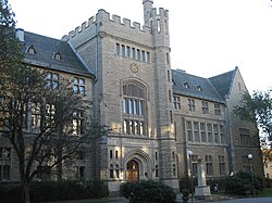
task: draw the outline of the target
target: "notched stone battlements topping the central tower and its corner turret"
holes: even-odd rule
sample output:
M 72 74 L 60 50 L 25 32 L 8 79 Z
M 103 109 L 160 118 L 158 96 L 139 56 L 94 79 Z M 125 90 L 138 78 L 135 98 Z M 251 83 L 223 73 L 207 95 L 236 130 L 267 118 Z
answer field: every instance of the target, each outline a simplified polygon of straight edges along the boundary
M 168 18 L 169 16 L 169 11 L 164 10 L 162 8 L 159 9 L 159 13 L 157 13 L 157 9 L 153 8 L 150 17 L 156 17 L 156 18 Z M 94 26 L 97 26 L 96 29 L 99 29 L 101 31 L 104 31 L 103 25 L 107 26 L 121 26 L 122 28 L 131 28 L 133 31 L 144 31 L 144 33 L 150 33 L 150 27 L 147 25 L 140 26 L 140 23 L 137 22 L 131 22 L 128 18 L 122 18 L 119 15 L 108 13 L 106 10 L 100 9 L 98 10 L 98 13 L 96 16 L 91 16 L 88 21 L 84 22 L 81 26 L 76 27 L 74 30 L 70 31 L 69 35 L 65 35 L 62 37 L 62 40 L 70 40 L 77 35 L 84 33 L 86 29 L 94 29 Z M 91 28 L 92 27 L 92 28 Z M 136 34 L 137 35 L 137 34 Z

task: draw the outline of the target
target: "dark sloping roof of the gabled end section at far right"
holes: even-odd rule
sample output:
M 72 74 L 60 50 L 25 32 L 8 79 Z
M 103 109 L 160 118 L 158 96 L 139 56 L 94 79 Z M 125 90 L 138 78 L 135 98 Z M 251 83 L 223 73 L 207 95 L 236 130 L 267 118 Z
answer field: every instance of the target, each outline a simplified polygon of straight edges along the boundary
M 209 78 L 222 98 L 230 94 L 230 88 L 232 87 L 235 69 Z

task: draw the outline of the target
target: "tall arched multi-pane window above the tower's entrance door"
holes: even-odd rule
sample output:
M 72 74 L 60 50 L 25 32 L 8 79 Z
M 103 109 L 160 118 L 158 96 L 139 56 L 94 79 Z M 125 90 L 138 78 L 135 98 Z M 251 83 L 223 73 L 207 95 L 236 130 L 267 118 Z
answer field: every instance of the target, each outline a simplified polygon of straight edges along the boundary
M 123 129 L 127 135 L 147 135 L 146 88 L 135 83 L 123 85 Z

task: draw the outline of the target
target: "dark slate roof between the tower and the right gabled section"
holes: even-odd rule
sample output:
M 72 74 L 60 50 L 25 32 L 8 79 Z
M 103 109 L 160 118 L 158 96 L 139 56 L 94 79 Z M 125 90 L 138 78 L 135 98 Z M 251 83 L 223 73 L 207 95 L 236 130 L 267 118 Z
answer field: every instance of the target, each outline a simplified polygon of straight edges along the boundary
M 200 98 L 222 103 L 224 102 L 224 99 L 207 78 L 194 76 L 185 73 L 184 71 L 172 69 L 172 79 L 173 91 L 176 94 Z M 187 83 L 189 88 L 184 87 L 184 83 Z M 199 90 L 198 87 L 200 87 L 201 90 Z

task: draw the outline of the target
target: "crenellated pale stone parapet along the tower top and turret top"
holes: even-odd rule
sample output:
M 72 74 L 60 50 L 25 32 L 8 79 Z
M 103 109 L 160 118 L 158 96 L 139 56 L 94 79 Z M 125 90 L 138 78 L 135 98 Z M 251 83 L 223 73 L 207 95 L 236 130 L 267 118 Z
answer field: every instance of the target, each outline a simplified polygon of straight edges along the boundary
M 162 8 L 159 9 L 159 13 L 157 13 L 157 9 L 153 8 L 150 12 L 150 20 L 164 20 L 168 18 L 169 12 Z M 164 22 L 163 21 L 163 22 Z M 70 31 L 69 35 L 62 37 L 63 40 L 71 40 L 79 35 L 83 35 L 86 31 L 91 31 L 94 35 L 99 31 L 111 33 L 112 30 L 119 31 L 132 31 L 133 35 L 138 34 L 151 34 L 151 28 L 149 25 L 141 26 L 140 23 L 133 22 L 128 18 L 122 18 L 119 15 L 110 15 L 106 10 L 99 10 L 96 16 L 91 16 L 88 21 L 84 22 L 81 26 L 76 27 L 74 30 Z M 129 30 L 131 29 L 131 30 Z

